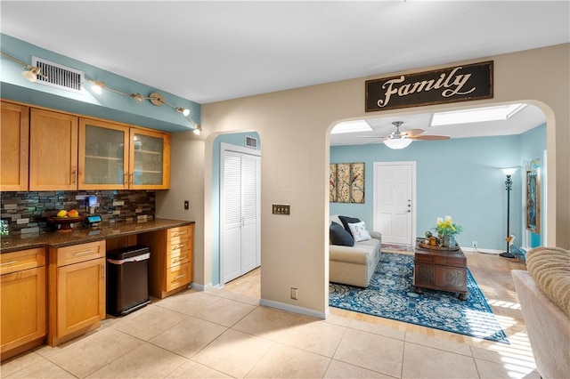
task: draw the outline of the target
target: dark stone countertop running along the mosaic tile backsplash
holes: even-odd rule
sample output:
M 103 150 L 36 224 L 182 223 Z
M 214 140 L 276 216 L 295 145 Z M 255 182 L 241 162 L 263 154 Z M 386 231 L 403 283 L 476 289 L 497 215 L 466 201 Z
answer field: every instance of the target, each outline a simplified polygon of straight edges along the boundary
M 80 227 L 65 233 L 54 230 L 45 233 L 3 237 L 0 241 L 0 253 L 4 254 L 36 247 L 63 247 L 85 244 L 87 242 L 101 241 L 102 239 L 124 237 L 154 230 L 191 225 L 193 223 L 193 221 L 169 219 L 154 219 L 150 222 L 102 222 L 102 225 L 97 228 Z

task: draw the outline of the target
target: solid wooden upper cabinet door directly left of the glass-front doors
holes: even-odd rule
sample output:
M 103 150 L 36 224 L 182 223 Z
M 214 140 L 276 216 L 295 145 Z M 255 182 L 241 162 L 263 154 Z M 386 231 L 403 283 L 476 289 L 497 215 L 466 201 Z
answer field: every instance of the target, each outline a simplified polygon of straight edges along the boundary
M 77 189 L 77 116 L 31 109 L 29 189 Z

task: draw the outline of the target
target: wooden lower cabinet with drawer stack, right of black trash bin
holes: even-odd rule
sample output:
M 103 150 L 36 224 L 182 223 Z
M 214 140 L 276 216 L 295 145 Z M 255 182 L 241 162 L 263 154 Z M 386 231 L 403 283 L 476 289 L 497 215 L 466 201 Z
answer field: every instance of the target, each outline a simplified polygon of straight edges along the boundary
M 163 299 L 190 285 L 194 224 L 142 233 L 137 243 L 151 247 L 149 294 Z

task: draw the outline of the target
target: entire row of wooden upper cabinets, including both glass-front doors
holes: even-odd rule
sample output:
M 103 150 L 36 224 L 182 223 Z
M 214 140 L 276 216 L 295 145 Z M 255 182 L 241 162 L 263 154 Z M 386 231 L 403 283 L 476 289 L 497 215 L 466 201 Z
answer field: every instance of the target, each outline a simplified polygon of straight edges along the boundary
M 1 190 L 170 188 L 170 133 L 4 101 L 1 116 Z

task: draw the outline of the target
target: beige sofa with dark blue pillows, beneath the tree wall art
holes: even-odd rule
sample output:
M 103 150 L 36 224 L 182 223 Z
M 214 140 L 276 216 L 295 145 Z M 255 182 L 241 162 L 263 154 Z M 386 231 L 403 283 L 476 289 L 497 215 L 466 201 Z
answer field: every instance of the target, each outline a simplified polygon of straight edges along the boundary
M 333 215 L 333 222 L 340 222 Z M 329 246 L 329 280 L 333 283 L 350 286 L 369 286 L 380 262 L 382 236 L 379 232 L 370 232 L 371 239 L 355 242 L 354 246 Z

